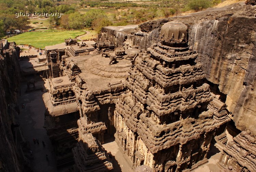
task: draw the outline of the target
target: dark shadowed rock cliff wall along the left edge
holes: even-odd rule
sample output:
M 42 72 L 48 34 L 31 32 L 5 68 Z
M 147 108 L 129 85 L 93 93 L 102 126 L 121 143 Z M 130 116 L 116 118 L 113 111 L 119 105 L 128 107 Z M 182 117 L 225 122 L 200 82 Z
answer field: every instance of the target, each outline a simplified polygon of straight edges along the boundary
M 3 41 L 2 41 L 3 43 Z M 6 42 L 5 42 L 6 43 Z M 3 46 L 2 46 L 3 47 Z M 7 43 L 0 55 L 0 171 L 19 172 L 21 165 L 13 129 L 16 123 L 16 94 L 19 90 L 19 47 Z M 16 110 L 15 110 L 16 109 Z

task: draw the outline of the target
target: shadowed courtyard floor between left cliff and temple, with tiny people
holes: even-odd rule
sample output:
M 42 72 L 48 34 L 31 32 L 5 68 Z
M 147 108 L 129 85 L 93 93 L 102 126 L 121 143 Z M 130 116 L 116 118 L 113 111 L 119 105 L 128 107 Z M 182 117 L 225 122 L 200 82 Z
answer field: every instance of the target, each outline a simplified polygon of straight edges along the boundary
M 44 85 L 44 81 L 35 83 L 35 85 Z M 18 97 L 20 115 L 19 123 L 22 127 L 24 137 L 30 144 L 30 149 L 33 151 L 33 159 L 31 166 L 34 172 L 56 172 L 56 162 L 53 153 L 53 147 L 44 126 L 45 105 L 42 99 L 44 92 L 32 91 L 25 93 L 26 83 L 22 83 L 21 96 Z M 22 109 L 22 103 L 25 104 L 25 109 Z M 34 144 L 33 139 L 39 139 L 39 144 Z M 42 141 L 45 142 L 43 147 Z M 48 161 L 46 160 L 48 155 Z

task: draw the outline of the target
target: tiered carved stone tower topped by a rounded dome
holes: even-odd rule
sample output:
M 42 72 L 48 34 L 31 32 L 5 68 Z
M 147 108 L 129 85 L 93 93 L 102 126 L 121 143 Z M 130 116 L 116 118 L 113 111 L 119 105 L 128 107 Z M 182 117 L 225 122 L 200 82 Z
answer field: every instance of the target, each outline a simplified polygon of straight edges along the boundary
M 207 162 L 212 138 L 230 120 L 187 43 L 187 26 L 170 21 L 161 27 L 160 41 L 133 60 L 128 91 L 114 115 L 116 142 L 133 169 L 196 168 Z

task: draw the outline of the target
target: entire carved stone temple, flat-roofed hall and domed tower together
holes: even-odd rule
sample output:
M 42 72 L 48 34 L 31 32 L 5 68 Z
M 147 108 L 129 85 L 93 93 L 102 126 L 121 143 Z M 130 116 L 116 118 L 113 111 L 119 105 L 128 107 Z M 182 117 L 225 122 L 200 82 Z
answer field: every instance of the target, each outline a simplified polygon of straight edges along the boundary
M 188 36 L 174 20 L 147 49 L 129 46 L 127 37 L 115 45 L 106 33 L 96 44 L 67 39 L 47 46 L 45 126 L 57 167 L 115 170 L 102 147 L 111 137 L 133 171 L 188 172 L 207 163 L 211 141 L 225 144 L 230 118 Z M 232 156 L 228 148 L 222 157 Z

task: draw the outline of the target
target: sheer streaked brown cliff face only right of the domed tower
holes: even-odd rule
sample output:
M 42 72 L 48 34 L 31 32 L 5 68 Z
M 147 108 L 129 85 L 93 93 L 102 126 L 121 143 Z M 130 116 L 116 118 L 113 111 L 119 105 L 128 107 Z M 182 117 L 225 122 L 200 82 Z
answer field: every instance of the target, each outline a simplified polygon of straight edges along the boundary
M 191 27 L 190 45 L 199 52 L 207 79 L 227 95 L 238 129 L 250 129 L 256 135 L 255 31 L 256 17 L 225 16 Z

